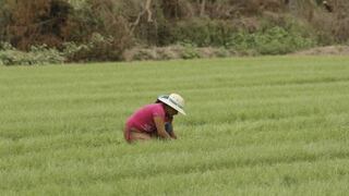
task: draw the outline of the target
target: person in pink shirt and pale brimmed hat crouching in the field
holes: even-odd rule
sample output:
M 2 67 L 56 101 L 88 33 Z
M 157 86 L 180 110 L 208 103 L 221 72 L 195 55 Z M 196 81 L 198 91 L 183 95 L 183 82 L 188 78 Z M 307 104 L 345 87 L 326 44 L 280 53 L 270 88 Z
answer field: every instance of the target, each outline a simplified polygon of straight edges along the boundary
M 183 108 L 184 99 L 180 95 L 159 96 L 155 103 L 142 107 L 127 120 L 123 131 L 125 140 L 176 139 L 172 121 L 178 112 L 185 115 Z

